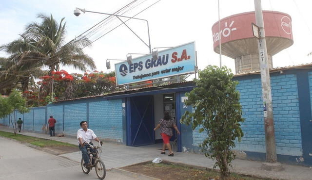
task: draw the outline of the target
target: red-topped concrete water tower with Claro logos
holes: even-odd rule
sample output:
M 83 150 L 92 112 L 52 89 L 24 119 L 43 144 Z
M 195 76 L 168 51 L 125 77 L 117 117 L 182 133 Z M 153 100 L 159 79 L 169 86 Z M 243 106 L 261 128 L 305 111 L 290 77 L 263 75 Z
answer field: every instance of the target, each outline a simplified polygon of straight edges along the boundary
M 293 44 L 292 18 L 276 11 L 263 11 L 263 20 L 268 49 L 269 67 L 273 67 L 272 56 Z M 214 51 L 219 53 L 221 37 L 222 55 L 235 60 L 236 73 L 260 70 L 258 43 L 253 35 L 254 12 L 225 17 L 212 27 Z

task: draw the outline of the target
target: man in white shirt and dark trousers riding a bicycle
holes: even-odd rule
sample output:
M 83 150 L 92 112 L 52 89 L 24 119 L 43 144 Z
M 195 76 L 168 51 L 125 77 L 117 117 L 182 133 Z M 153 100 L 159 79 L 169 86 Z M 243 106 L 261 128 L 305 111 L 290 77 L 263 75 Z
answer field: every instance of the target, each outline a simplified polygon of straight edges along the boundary
M 95 152 L 95 149 L 91 148 L 88 144 L 84 144 L 85 142 L 88 142 L 89 144 L 92 144 L 92 140 L 96 140 L 100 143 L 98 137 L 96 136 L 96 134 L 88 129 L 88 122 L 87 121 L 81 121 L 80 122 L 80 127 L 81 129 L 78 130 L 77 132 L 77 140 L 79 143 L 79 149 L 82 152 L 82 158 L 83 161 L 86 165 L 86 167 L 91 167 L 92 166 L 92 162 L 90 162 L 90 157 L 88 154 L 88 150 L 87 148 L 90 148 L 91 152 Z

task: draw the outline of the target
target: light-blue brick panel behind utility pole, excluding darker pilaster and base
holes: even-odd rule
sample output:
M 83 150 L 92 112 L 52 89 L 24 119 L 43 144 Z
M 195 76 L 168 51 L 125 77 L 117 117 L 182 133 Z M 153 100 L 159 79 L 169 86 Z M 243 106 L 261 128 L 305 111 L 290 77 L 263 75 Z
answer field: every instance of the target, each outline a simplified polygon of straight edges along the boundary
M 301 156 L 296 75 L 272 76 L 271 86 L 276 152 L 282 155 Z M 236 143 L 236 149 L 265 152 L 261 79 L 239 81 L 237 90 L 240 92 L 245 122 L 241 125 L 244 137 L 241 143 Z

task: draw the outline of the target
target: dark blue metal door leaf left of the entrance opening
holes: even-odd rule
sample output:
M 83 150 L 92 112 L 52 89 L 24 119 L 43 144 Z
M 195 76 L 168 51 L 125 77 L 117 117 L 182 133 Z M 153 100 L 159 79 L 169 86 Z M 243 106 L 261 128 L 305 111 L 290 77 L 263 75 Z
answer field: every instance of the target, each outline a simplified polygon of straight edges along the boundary
M 153 96 L 130 98 L 131 145 L 155 144 Z

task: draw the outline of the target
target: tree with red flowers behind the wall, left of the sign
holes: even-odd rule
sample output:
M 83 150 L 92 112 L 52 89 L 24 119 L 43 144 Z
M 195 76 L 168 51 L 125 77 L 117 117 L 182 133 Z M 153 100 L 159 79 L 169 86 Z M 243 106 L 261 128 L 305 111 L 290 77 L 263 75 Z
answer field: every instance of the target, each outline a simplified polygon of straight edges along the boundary
M 51 74 L 51 76 L 40 77 L 41 81 L 37 82 L 40 89 L 37 96 L 38 104 L 44 105 L 55 100 L 98 96 L 119 90 L 116 85 L 115 72 L 93 71 L 84 74 L 69 74 L 65 70 L 60 70 L 52 71 Z M 51 83 L 53 83 L 53 98 L 51 93 L 46 93 L 46 89 L 51 87 Z

